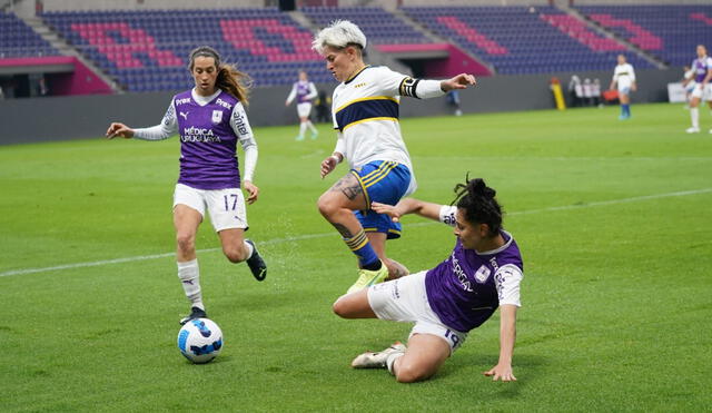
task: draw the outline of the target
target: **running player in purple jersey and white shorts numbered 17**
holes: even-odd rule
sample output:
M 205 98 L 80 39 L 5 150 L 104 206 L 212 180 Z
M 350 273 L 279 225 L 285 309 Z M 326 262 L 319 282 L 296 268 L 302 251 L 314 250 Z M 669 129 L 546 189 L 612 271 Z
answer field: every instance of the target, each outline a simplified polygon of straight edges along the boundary
M 196 257 L 196 233 L 206 209 L 218 233 L 222 253 L 233 263 L 247 262 L 257 281 L 267 276 L 267 266 L 255 247 L 244 238 L 247 230 L 245 197 L 257 200 L 253 184 L 257 165 L 257 142 L 243 104 L 247 104 L 247 75 L 220 62 L 218 52 L 207 46 L 190 52 L 188 69 L 195 88 L 174 97 L 160 125 L 131 129 L 113 122 L 107 137 L 162 140 L 180 135 L 180 177 L 174 193 L 178 277 L 191 303 L 190 314 L 180 321 L 207 317 L 200 292 Z M 245 175 L 240 180 L 236 149 L 245 151 Z M 241 184 L 241 185 L 240 185 Z

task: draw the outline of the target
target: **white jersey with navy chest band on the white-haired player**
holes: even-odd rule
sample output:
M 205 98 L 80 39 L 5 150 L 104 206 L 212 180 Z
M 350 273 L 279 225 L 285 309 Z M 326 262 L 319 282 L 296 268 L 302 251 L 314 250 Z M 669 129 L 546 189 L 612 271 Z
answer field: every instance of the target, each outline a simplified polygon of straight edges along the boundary
M 338 129 L 335 151 L 344 155 L 352 169 L 370 161 L 388 160 L 411 169 L 406 195 L 415 190 L 411 155 L 400 136 L 400 96 L 417 97 L 418 81 L 387 67 L 366 67 L 334 90 L 332 114 Z M 444 95 L 444 94 L 443 94 Z

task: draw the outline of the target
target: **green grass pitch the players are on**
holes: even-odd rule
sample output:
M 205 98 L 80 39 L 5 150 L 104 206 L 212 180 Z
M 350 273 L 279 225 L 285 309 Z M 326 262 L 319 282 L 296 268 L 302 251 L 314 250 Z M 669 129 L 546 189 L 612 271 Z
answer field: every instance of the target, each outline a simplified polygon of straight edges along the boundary
M 417 197 L 447 204 L 469 171 L 508 213 L 525 262 L 516 383 L 482 375 L 497 314 L 428 382 L 348 366 L 411 326 L 330 311 L 356 272 L 316 209 L 346 173 L 319 179 L 327 125 L 303 142 L 296 125 L 256 128 L 248 234 L 264 283 L 201 226 L 204 297 L 226 342 L 207 365 L 176 347 L 188 311 L 172 257 L 178 140 L 0 147 L 0 410 L 709 410 L 712 135 L 688 122 L 679 105 L 633 106 L 629 121 L 614 107 L 402 120 Z M 452 250 L 451 228 L 404 222 L 388 252 L 412 271 Z

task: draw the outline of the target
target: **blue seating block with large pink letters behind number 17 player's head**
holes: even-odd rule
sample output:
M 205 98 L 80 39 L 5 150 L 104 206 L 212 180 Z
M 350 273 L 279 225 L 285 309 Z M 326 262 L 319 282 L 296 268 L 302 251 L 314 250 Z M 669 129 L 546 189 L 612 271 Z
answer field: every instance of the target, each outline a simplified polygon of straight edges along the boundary
M 127 90 L 192 86 L 188 53 L 216 48 L 255 86 L 290 83 L 297 70 L 333 81 L 310 50 L 312 32 L 277 8 L 47 12 L 43 20 Z

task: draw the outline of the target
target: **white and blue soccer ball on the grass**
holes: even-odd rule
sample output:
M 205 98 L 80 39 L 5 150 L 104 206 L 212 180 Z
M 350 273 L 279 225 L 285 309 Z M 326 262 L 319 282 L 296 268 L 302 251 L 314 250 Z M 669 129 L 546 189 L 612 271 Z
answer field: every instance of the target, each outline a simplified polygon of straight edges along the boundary
M 191 319 L 178 332 L 178 348 L 192 363 L 208 363 L 222 348 L 222 332 L 211 319 Z

